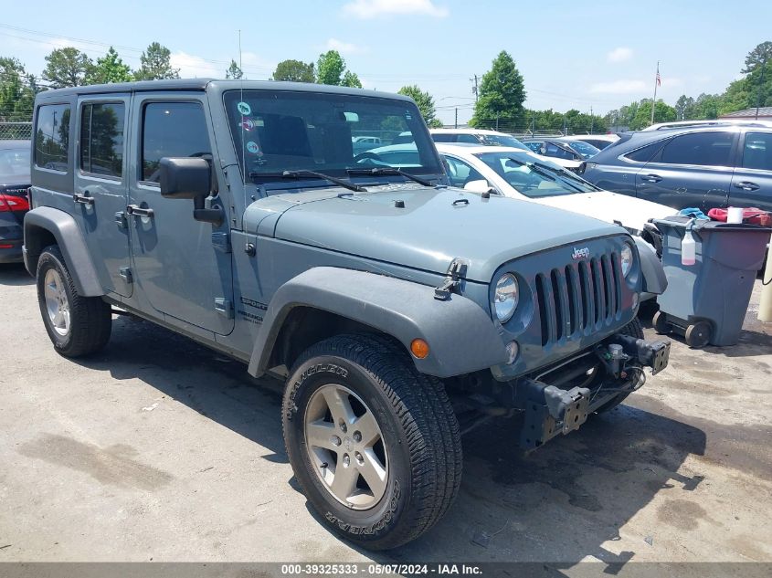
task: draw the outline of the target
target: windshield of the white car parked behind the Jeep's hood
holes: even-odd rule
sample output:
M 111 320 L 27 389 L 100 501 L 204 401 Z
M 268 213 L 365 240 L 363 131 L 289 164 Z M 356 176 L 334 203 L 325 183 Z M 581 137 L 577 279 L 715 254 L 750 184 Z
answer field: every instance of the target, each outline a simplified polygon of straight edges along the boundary
M 502 177 L 518 193 L 527 197 L 559 194 L 592 193 L 597 186 L 557 165 L 538 163 L 528 154 L 513 152 L 481 152 L 475 155 Z

